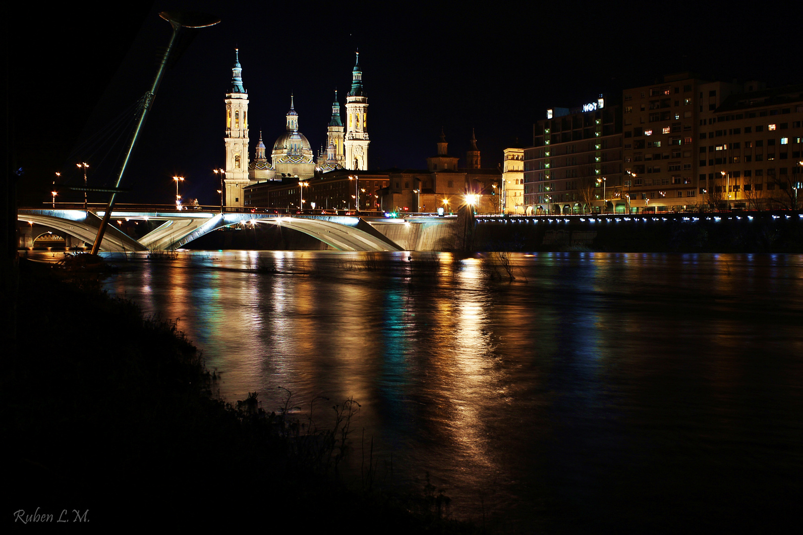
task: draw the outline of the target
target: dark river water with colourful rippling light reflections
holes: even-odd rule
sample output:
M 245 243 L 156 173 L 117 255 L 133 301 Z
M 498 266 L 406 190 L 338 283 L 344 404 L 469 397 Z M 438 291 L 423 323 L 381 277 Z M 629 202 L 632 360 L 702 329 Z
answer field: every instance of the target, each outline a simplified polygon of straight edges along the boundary
M 373 438 L 385 484 L 429 473 L 454 517 L 518 533 L 800 520 L 803 257 L 408 254 L 136 257 L 104 287 L 179 318 L 226 400 L 258 391 L 270 411 L 283 387 L 302 415 L 323 395 L 326 424 L 353 397 L 353 473 Z

